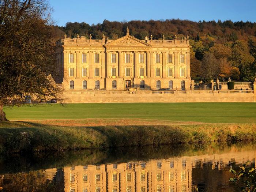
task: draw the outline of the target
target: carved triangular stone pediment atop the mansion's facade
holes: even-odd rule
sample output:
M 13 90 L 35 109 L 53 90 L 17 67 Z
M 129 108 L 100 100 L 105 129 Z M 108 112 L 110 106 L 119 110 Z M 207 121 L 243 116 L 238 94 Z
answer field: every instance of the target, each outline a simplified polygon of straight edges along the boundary
M 105 46 L 152 46 L 131 35 L 125 35 L 119 39 L 109 42 Z

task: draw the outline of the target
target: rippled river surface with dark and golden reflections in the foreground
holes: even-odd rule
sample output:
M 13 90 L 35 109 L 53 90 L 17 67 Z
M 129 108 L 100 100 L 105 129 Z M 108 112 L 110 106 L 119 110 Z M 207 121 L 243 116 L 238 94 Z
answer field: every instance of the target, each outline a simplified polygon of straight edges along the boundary
M 41 160 L 38 155 L 26 157 L 22 161 L 27 163 L 18 166 L 7 158 L 0 161 L 0 186 L 3 191 L 191 192 L 195 182 L 199 191 L 235 191 L 229 169 L 248 160 L 255 167 L 255 146 L 213 143 L 77 151 Z

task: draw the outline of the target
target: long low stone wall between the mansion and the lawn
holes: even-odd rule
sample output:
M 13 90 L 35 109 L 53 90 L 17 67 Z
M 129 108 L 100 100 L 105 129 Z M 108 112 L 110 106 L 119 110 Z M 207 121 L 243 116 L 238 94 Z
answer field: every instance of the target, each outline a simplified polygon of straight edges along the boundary
M 66 91 L 67 103 L 256 102 L 253 91 Z

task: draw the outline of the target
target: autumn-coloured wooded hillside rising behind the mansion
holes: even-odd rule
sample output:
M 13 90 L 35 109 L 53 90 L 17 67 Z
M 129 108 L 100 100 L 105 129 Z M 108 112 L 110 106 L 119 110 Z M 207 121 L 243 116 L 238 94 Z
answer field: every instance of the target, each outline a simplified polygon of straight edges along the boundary
M 109 39 L 117 39 L 126 34 L 129 27 L 130 35 L 144 39 L 153 36 L 166 40 L 181 39 L 189 35 L 191 39 L 191 76 L 196 80 L 209 82 L 217 76 L 223 80 L 253 81 L 256 77 L 256 23 L 232 22 L 231 20 L 218 22 L 190 20 L 133 20 L 129 22 L 110 22 L 104 20 L 97 25 L 82 23 L 67 23 L 65 27 L 56 27 L 60 38 L 86 36 L 101 39 L 102 34 Z M 59 29 L 57 29 L 59 28 Z M 214 70 L 212 70 L 214 69 Z

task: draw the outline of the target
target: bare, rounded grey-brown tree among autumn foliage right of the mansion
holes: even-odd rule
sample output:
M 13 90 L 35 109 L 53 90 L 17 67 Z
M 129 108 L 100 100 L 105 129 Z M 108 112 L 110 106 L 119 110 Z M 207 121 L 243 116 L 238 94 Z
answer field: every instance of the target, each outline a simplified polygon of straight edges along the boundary
M 213 53 L 205 53 L 202 59 L 202 77 L 206 82 L 217 78 L 220 71 L 219 61 Z

